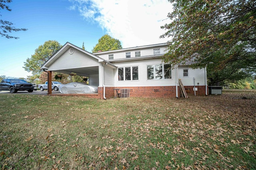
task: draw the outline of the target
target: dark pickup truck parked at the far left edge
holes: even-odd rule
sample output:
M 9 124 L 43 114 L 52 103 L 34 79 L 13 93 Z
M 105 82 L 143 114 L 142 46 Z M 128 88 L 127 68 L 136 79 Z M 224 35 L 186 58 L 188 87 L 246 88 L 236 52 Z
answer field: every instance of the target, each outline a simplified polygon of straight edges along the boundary
M 16 93 L 18 91 L 28 91 L 33 92 L 34 86 L 25 80 L 20 79 L 4 79 L 0 82 L 0 91 L 10 91 L 10 93 Z

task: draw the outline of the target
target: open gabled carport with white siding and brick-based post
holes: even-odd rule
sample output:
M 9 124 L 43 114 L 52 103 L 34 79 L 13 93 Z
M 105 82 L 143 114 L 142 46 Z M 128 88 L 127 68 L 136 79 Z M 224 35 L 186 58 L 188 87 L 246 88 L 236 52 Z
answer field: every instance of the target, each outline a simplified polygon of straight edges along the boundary
M 98 86 L 98 98 L 105 99 L 105 66 L 117 68 L 114 64 L 67 42 L 41 69 L 48 73 L 48 94 L 52 94 L 52 71 L 65 74 L 74 72 L 79 76 L 89 77 L 90 85 Z

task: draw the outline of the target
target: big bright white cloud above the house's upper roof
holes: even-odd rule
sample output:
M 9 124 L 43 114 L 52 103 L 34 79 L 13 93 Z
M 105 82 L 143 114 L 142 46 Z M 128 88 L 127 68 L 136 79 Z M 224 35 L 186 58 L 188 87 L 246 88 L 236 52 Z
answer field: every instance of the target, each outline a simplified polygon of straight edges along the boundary
M 159 38 L 165 32 L 160 26 L 168 21 L 165 19 L 172 10 L 168 0 L 70 1 L 84 18 L 98 22 L 110 36 L 119 39 L 123 48 L 165 43 L 168 40 Z

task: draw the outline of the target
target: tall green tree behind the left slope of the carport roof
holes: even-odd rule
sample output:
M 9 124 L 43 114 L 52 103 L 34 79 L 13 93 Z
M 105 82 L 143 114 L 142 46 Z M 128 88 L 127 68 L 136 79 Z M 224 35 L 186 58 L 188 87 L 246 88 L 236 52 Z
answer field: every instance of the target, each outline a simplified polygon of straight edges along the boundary
M 40 45 L 35 53 L 24 62 L 24 69 L 32 72 L 35 78 L 38 78 L 42 70 L 40 67 L 44 64 L 54 53 L 56 53 L 62 45 L 58 41 L 46 41 L 44 45 Z

